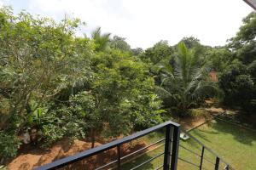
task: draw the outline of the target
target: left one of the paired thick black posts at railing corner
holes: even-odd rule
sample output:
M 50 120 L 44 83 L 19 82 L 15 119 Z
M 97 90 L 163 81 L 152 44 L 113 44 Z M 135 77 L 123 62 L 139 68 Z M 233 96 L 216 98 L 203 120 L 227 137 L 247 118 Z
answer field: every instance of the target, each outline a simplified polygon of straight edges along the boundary
M 170 169 L 171 163 L 171 148 L 172 148 L 172 134 L 171 124 L 166 126 L 166 144 L 165 144 L 165 157 L 164 157 L 164 170 Z

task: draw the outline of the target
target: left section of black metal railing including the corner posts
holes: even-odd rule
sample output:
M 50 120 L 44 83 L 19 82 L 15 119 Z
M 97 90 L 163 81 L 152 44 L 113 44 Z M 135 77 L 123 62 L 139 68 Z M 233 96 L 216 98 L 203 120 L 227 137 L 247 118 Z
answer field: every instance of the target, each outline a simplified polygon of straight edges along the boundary
M 132 134 L 130 136 L 127 136 L 123 139 L 118 139 L 118 140 L 114 140 L 113 142 L 110 142 L 108 144 L 102 144 L 96 148 L 93 148 L 91 150 L 85 150 L 77 155 L 74 156 L 68 156 L 66 158 L 63 158 L 61 160 L 58 161 L 54 161 L 52 163 L 49 163 L 47 165 L 44 165 L 43 167 L 38 167 L 37 170 L 46 170 L 46 169 L 58 169 L 61 167 L 65 167 L 67 165 L 72 165 L 73 163 L 76 163 L 78 161 L 81 161 L 85 158 L 88 158 L 90 156 L 96 156 L 99 153 L 102 153 L 106 150 L 111 150 L 113 148 L 116 148 L 117 150 L 117 157 L 116 160 L 111 161 L 109 163 L 107 163 L 106 165 L 103 165 L 102 167 L 97 167 L 95 169 L 100 170 L 100 169 L 106 169 L 106 167 L 109 166 L 115 166 L 117 169 L 122 169 L 121 168 L 121 163 L 122 160 L 124 160 L 126 157 L 128 156 L 132 156 L 134 154 L 137 154 L 139 151 L 142 150 L 146 150 L 148 147 L 153 146 L 154 144 L 149 144 L 148 146 L 137 150 L 135 152 L 132 152 L 129 155 L 126 156 L 121 156 L 121 151 L 120 148 L 122 146 L 122 144 L 126 144 L 131 142 L 134 139 L 139 139 L 145 135 L 147 135 L 148 133 L 153 133 L 157 130 L 166 128 L 166 138 L 164 139 L 160 139 L 156 142 L 154 142 L 154 144 L 159 144 L 160 142 L 165 141 L 165 150 L 164 152 L 160 153 L 157 156 L 154 156 L 150 159 L 148 159 L 148 161 L 144 161 L 143 163 L 141 163 L 140 165 L 137 165 L 136 167 L 132 167 L 131 169 L 137 169 L 138 167 L 143 167 L 143 165 L 147 164 L 150 161 L 153 161 L 154 159 L 160 157 L 160 156 L 164 156 L 164 161 L 163 164 L 158 167 L 157 169 L 163 168 L 164 170 L 176 170 L 177 169 L 177 157 L 178 157 L 178 146 L 179 146 L 179 133 L 180 133 L 180 125 L 177 124 L 176 122 L 165 122 L 162 123 L 160 125 L 157 125 L 155 127 L 150 127 L 146 130 L 143 130 L 141 132 Z M 86 165 L 84 165 L 86 167 Z M 71 168 L 72 169 L 72 168 Z

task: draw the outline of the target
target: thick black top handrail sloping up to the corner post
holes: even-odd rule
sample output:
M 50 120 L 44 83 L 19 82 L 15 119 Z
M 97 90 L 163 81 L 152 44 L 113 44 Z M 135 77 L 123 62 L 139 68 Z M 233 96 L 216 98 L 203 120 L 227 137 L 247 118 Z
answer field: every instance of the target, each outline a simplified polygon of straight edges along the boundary
M 146 130 L 143 130 L 141 132 L 137 132 L 137 133 L 131 134 L 130 136 L 126 136 L 123 139 L 117 139 L 117 140 L 114 140 L 113 142 L 110 142 L 108 144 L 102 144 L 102 145 L 100 145 L 100 146 L 98 146 L 96 148 L 93 148 L 91 150 L 82 151 L 82 152 L 80 152 L 77 155 L 68 156 L 66 158 L 54 161 L 54 162 L 49 163 L 49 164 L 46 164 L 46 165 L 44 165 L 42 167 L 38 167 L 37 170 L 44 170 L 44 169 L 53 169 L 53 168 L 57 168 L 57 167 L 64 167 L 64 166 L 66 166 L 68 164 L 71 164 L 73 162 L 80 161 L 80 160 L 82 160 L 82 159 L 84 159 L 86 157 L 94 156 L 97 153 L 103 152 L 105 150 L 110 150 L 110 149 L 116 147 L 119 144 L 125 144 L 125 143 L 127 143 L 127 142 L 129 142 L 131 140 L 143 137 L 143 136 L 145 136 L 148 133 L 153 133 L 154 131 L 156 131 L 156 130 L 162 128 L 162 127 L 166 127 L 166 125 L 172 125 L 174 127 L 180 127 L 180 125 L 177 124 L 176 122 L 172 122 L 172 121 L 164 122 L 164 123 L 161 123 L 160 125 L 157 125 L 157 126 L 154 126 L 154 127 L 150 127 L 150 128 L 148 128 Z

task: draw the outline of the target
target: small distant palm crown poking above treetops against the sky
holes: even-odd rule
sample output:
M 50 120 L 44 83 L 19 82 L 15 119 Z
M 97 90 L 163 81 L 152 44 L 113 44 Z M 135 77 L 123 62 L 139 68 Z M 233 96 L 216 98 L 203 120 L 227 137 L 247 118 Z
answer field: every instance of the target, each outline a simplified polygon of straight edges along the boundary
M 108 42 L 110 42 L 110 33 L 102 34 L 101 27 L 97 27 L 96 30 L 91 32 L 91 38 L 96 43 L 96 51 L 102 51 L 107 48 Z

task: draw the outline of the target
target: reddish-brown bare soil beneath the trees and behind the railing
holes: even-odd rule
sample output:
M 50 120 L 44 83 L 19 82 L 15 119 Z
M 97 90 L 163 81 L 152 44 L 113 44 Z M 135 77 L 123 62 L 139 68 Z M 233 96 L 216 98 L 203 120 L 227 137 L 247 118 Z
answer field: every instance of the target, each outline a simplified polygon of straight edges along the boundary
M 216 115 L 223 110 L 221 108 L 210 108 L 207 109 L 213 115 Z M 201 123 L 206 121 L 206 117 L 197 117 L 191 118 L 186 117 L 178 121 L 185 129 L 189 129 L 195 126 L 200 125 Z M 95 147 L 101 145 L 102 143 L 96 142 Z M 90 149 L 90 142 L 84 142 L 81 140 L 75 140 L 73 143 L 70 143 L 70 140 L 63 139 L 60 142 L 56 143 L 50 149 L 38 149 L 31 148 L 31 146 L 24 145 L 23 148 L 20 148 L 20 155 L 17 156 L 13 161 L 11 161 L 8 165 L 10 170 L 30 170 L 35 167 L 43 166 L 49 162 L 56 161 L 63 157 L 73 156 L 81 151 Z M 147 144 L 145 142 L 137 142 L 135 144 L 123 144 L 121 148 L 122 156 L 125 156 L 131 153 L 134 150 L 138 150 L 143 148 Z M 150 148 L 148 148 L 150 150 Z M 147 150 L 143 150 L 147 151 Z M 138 154 L 142 154 L 138 153 Z M 73 167 L 65 167 L 63 169 L 83 169 L 86 164 L 86 169 L 94 169 L 96 167 L 100 167 L 107 162 L 116 160 L 117 151 L 116 149 L 108 150 L 100 155 L 92 156 L 89 159 L 84 159 L 82 161 L 73 164 Z M 96 160 L 100 160 L 96 161 Z M 90 165 L 88 167 L 88 165 Z

